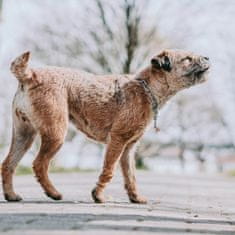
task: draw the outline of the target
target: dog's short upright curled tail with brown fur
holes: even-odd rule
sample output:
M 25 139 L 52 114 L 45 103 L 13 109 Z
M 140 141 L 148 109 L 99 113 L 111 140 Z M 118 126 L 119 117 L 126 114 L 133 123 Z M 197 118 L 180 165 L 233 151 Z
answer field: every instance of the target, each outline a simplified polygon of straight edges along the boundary
M 11 63 L 11 72 L 19 82 L 26 82 L 32 76 L 31 69 L 28 68 L 29 58 L 30 52 L 27 51 Z

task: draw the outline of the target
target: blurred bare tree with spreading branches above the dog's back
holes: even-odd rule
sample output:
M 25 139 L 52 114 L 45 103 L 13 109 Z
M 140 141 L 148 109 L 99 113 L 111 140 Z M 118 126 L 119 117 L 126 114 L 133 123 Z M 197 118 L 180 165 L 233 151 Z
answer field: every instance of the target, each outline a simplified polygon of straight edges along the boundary
M 37 42 L 27 35 L 23 43 L 45 63 L 94 73 L 136 72 L 167 44 L 154 20 L 147 18 L 148 1 L 143 5 L 137 0 L 94 0 L 85 8 L 83 15 L 79 3 L 77 9 L 69 9 L 69 14 L 79 18 L 65 18 L 52 9 L 44 23 L 33 25 L 38 27 Z

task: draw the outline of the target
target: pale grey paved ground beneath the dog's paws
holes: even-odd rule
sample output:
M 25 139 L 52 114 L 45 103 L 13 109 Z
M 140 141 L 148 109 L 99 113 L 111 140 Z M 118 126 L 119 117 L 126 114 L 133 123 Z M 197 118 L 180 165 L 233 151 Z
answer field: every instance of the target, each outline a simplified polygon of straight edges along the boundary
M 5 202 L 0 192 L 0 234 L 235 235 L 234 178 L 139 171 L 139 191 L 149 202 L 137 205 L 129 203 L 117 174 L 107 187 L 107 203 L 94 204 L 90 191 L 98 174 L 51 174 L 62 201 L 47 198 L 32 175 L 16 176 L 24 201 Z

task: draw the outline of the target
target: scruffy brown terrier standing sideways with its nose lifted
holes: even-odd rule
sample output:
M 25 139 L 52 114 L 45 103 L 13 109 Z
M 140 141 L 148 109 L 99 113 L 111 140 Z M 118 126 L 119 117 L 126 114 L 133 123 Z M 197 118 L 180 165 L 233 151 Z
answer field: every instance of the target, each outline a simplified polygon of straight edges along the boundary
M 41 147 L 33 163 L 35 175 L 49 197 L 62 198 L 48 178 L 48 166 L 64 143 L 70 120 L 91 139 L 107 144 L 103 170 L 92 191 L 94 201 L 104 202 L 102 192 L 120 160 L 130 201 L 145 203 L 137 193 L 131 150 L 170 97 L 205 81 L 208 58 L 165 50 L 136 75 L 99 76 L 69 68 L 29 68 L 29 57 L 24 53 L 11 65 L 19 87 L 13 101 L 12 144 L 2 164 L 5 199 L 21 200 L 12 177 L 36 134 Z

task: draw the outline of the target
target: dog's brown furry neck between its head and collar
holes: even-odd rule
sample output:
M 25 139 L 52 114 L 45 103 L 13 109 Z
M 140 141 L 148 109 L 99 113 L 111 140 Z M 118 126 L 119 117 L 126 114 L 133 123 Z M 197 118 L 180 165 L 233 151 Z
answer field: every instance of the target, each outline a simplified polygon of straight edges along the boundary
M 176 91 L 170 88 L 164 73 L 153 70 L 151 67 L 141 71 L 137 78 L 144 80 L 148 84 L 157 99 L 159 108 L 176 94 Z

